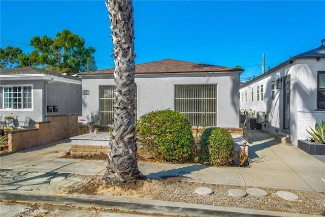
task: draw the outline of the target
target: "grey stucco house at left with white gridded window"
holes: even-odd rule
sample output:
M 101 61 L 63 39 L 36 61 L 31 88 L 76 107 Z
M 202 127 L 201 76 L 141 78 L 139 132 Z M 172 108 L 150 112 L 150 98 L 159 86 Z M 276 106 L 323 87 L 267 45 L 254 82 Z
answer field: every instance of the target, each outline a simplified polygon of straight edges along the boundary
M 81 79 L 32 67 L 0 70 L 2 119 L 46 121 L 46 115 L 81 113 Z M 14 121 L 14 122 L 15 122 Z

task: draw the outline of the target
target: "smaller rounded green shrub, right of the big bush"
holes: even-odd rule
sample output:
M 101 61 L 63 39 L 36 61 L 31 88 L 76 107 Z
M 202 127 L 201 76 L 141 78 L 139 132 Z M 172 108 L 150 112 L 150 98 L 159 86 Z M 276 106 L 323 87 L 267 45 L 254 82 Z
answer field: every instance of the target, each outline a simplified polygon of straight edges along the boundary
M 222 129 L 216 128 L 209 137 L 210 163 L 218 166 L 229 166 L 234 159 L 234 140 L 232 135 Z

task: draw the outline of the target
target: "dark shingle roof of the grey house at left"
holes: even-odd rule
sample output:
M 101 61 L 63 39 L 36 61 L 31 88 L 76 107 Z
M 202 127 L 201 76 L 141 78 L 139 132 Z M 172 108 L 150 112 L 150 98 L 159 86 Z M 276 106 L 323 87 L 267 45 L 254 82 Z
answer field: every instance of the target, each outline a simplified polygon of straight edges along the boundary
M 78 77 L 62 75 L 60 73 L 50 72 L 50 71 L 47 71 L 44 69 L 38 69 L 38 68 L 34 68 L 34 67 L 29 67 L 29 66 L 0 70 L 0 75 L 37 75 L 37 74 L 52 75 L 52 76 L 57 76 L 57 77 L 62 77 L 62 78 L 81 80 L 81 78 L 78 78 Z

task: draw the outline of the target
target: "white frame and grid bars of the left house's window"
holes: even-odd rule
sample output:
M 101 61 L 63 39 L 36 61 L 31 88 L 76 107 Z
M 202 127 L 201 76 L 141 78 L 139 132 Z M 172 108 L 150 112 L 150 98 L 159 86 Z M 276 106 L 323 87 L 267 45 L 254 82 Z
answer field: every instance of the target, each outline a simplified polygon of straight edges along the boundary
M 5 98 L 5 88 L 12 88 L 14 89 L 15 87 L 20 87 L 20 93 L 21 93 L 21 97 L 15 97 L 16 99 L 21 99 L 21 102 L 19 102 L 19 104 L 21 104 L 21 108 L 13 108 L 13 104 L 15 102 L 13 102 L 14 96 L 11 97 L 11 105 L 12 108 L 5 108 L 5 99 L 8 99 L 8 97 Z M 30 92 L 24 92 L 24 88 L 30 88 Z M 18 92 L 13 92 L 11 91 L 11 95 L 13 94 L 17 94 Z M 25 96 L 26 93 L 29 93 L 29 96 Z M 0 86 L 0 110 L 1 111 L 32 111 L 34 110 L 34 85 L 33 84 L 6 84 L 6 85 L 1 85 Z M 25 99 L 30 99 L 30 102 L 25 102 Z M 16 102 L 17 103 L 17 102 Z M 30 107 L 24 108 L 25 104 L 29 104 L 30 103 Z M 6 103 L 7 104 L 7 103 Z M 18 103 L 17 103 L 18 105 Z

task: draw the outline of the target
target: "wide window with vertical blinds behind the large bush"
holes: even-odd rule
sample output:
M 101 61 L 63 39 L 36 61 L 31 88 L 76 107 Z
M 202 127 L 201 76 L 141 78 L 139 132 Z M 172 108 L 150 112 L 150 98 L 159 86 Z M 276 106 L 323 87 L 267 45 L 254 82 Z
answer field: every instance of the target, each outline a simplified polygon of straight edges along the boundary
M 217 85 L 175 85 L 175 110 L 192 126 L 217 126 Z

